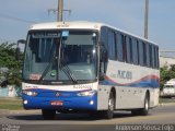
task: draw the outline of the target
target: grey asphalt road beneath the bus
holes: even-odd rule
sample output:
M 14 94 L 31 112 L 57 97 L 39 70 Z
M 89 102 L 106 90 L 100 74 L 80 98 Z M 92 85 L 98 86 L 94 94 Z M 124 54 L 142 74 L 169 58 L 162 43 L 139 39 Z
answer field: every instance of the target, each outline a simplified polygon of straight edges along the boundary
M 114 119 L 92 119 L 83 114 L 58 114 L 56 120 L 43 120 L 39 111 L 11 112 L 0 117 L 0 130 L 5 128 L 20 131 L 118 131 L 120 124 L 172 124 L 175 131 L 175 104 L 160 105 L 149 116 L 132 116 L 116 111 Z M 5 131 L 5 130 L 3 130 Z M 170 130 L 171 131 L 171 130 Z

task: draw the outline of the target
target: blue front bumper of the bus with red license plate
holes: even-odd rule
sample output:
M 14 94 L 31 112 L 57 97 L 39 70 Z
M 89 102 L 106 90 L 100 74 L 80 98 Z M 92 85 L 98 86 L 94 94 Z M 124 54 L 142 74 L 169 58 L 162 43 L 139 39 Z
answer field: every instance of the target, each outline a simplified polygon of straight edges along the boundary
M 96 110 L 97 95 L 74 97 L 37 97 L 23 94 L 25 109 Z

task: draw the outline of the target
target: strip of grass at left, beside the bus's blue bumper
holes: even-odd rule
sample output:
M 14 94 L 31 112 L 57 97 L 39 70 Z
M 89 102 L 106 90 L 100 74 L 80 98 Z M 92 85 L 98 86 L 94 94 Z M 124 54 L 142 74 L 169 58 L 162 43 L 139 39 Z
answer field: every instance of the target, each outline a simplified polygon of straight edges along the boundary
M 21 98 L 0 98 L 0 109 L 19 110 L 23 109 Z

